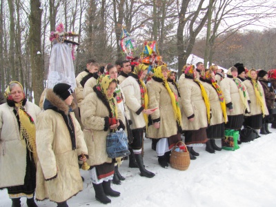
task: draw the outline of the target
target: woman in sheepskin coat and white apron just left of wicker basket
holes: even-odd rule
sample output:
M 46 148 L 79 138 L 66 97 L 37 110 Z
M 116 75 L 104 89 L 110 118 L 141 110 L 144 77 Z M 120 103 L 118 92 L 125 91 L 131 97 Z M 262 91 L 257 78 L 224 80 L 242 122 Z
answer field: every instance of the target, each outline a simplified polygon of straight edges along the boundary
M 168 68 L 158 66 L 155 68 L 154 76 L 146 84 L 148 106 L 156 109 L 150 115 L 146 137 L 159 139 L 156 152 L 158 163 L 162 168 L 168 168 L 170 150 L 181 140 L 182 131 L 181 110 L 177 95 L 170 88 L 167 78 Z

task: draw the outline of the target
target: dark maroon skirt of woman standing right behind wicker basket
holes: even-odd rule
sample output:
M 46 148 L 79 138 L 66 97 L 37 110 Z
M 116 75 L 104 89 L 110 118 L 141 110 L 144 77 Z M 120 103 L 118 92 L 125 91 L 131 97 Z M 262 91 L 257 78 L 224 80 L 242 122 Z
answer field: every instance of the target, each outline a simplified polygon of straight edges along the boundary
M 199 128 L 199 130 L 185 130 L 185 144 L 204 144 L 208 141 L 206 128 Z

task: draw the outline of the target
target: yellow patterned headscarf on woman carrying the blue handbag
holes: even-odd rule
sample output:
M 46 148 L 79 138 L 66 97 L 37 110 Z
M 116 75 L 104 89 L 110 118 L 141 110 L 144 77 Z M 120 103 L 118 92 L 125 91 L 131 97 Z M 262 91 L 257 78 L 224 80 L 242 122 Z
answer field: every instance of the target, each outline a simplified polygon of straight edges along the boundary
M 112 81 L 116 81 L 116 86 L 117 86 L 117 80 L 116 79 L 112 79 L 112 77 L 110 77 L 110 75 L 101 75 L 99 77 L 99 79 L 97 79 L 97 90 L 100 90 L 103 95 L 106 97 L 106 99 L 108 99 L 108 103 L 109 106 L 111 108 L 111 113 L 112 113 L 112 118 L 117 119 L 118 118 L 118 110 L 116 107 L 116 99 L 115 97 L 108 97 L 108 88 L 109 85 Z

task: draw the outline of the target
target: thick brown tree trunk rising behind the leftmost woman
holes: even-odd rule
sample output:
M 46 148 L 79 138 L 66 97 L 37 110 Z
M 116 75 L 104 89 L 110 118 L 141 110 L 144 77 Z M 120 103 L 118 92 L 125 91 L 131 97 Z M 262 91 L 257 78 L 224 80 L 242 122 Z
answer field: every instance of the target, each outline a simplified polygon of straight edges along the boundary
M 43 92 L 43 64 L 41 54 L 41 18 L 42 10 L 39 0 L 30 0 L 30 66 L 32 70 L 32 89 L 34 103 L 39 105 Z

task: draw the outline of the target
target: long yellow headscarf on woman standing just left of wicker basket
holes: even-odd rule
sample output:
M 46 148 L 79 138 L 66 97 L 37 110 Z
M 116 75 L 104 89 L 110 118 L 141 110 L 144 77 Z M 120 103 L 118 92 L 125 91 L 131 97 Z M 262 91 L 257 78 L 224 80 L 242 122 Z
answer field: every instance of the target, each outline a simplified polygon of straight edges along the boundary
M 177 121 L 179 126 L 181 126 L 182 125 L 182 119 L 181 119 L 181 112 L 180 112 L 180 108 L 179 108 L 177 95 L 175 95 L 175 93 L 172 92 L 172 90 L 170 89 L 168 81 L 164 78 L 164 75 L 162 73 L 162 69 L 166 70 L 167 67 L 166 66 L 158 66 L 157 68 L 155 68 L 154 76 L 163 80 L 165 88 L 168 90 L 168 94 L 170 95 L 170 99 L 172 101 L 172 109 L 173 109 L 173 113 L 175 115 L 175 120 Z

